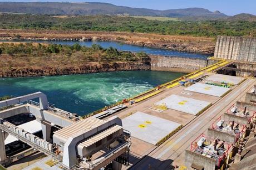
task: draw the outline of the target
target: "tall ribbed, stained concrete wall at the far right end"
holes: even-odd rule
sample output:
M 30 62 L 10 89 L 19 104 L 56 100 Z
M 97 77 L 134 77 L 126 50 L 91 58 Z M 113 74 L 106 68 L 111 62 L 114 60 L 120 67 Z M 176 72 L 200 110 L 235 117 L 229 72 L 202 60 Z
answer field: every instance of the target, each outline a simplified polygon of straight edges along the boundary
M 256 62 L 256 38 L 218 36 L 214 57 Z

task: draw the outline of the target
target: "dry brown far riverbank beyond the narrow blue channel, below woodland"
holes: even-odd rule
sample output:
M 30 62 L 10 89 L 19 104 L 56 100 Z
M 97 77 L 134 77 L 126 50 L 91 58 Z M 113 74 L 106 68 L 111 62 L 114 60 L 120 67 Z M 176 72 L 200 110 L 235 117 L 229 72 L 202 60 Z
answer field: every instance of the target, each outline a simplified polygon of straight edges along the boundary
M 202 54 L 213 54 L 215 47 L 215 39 L 207 37 L 125 32 L 86 32 L 74 30 L 0 29 L 0 40 L 99 40 Z

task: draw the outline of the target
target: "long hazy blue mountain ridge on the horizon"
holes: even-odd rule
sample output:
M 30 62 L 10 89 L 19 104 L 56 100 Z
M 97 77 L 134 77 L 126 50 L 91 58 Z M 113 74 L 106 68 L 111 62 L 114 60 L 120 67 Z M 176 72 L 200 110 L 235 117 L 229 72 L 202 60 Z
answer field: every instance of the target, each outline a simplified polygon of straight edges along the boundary
M 219 11 L 211 12 L 204 8 L 169 9 L 165 11 L 115 6 L 110 3 L 57 3 L 57 2 L 0 2 L 0 12 L 51 14 L 51 15 L 96 15 L 96 14 L 127 14 L 132 16 L 161 17 L 227 17 Z

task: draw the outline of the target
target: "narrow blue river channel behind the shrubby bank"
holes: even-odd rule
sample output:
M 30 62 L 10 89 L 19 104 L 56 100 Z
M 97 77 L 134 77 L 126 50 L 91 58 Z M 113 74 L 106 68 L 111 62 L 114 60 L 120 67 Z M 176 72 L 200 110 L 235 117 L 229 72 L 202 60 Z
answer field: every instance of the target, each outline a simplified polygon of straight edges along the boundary
M 1 42 L 4 42 L 4 41 L 1 41 Z M 188 53 L 183 51 L 140 47 L 137 45 L 122 44 L 117 42 L 99 42 L 99 41 L 79 42 L 79 41 L 48 41 L 48 40 L 17 40 L 15 42 L 27 42 L 27 43 L 37 42 L 37 43 L 51 43 L 51 44 L 62 44 L 62 45 L 73 45 L 75 43 L 79 43 L 80 45 L 85 45 L 87 47 L 91 47 L 92 44 L 99 44 L 103 48 L 114 47 L 117 50 L 132 51 L 135 53 L 144 51 L 147 54 L 154 54 L 154 55 L 181 56 L 186 58 L 201 58 L 201 59 L 206 59 L 208 58 L 208 56 L 210 56 L 207 54 Z

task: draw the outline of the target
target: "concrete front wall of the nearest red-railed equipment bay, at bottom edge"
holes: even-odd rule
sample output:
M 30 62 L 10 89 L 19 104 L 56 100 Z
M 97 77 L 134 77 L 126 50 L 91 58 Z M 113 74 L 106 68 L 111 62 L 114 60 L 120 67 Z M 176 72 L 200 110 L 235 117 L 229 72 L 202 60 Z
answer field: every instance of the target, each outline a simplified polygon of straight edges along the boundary
M 204 167 L 204 170 L 214 170 L 216 165 L 215 159 L 208 158 L 201 154 L 186 150 L 185 151 L 186 168 L 191 169 L 191 164 L 193 163 L 196 164 L 197 166 Z

